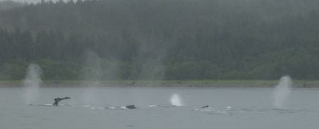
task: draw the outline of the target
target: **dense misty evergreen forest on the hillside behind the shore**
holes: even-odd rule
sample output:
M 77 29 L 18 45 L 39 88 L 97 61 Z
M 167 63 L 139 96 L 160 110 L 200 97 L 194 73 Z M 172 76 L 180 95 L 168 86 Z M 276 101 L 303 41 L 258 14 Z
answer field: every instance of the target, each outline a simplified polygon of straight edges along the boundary
M 319 79 L 318 0 L 42 1 L 0 9 L 0 79 Z

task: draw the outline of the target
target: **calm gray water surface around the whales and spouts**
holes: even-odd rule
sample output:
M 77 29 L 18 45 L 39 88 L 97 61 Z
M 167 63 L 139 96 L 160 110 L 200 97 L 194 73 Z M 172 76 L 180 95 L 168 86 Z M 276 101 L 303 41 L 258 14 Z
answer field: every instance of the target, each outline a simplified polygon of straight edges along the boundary
M 284 109 L 274 108 L 273 91 L 273 88 L 40 88 L 38 100 L 29 106 L 23 96 L 25 90 L 0 88 L 0 127 L 319 128 L 319 89 L 292 89 Z M 178 94 L 184 106 L 148 107 L 169 106 L 172 94 Z M 58 96 L 72 99 L 61 101 L 61 106 L 45 106 Z M 129 104 L 138 109 L 104 108 Z M 206 105 L 211 110 L 200 108 Z

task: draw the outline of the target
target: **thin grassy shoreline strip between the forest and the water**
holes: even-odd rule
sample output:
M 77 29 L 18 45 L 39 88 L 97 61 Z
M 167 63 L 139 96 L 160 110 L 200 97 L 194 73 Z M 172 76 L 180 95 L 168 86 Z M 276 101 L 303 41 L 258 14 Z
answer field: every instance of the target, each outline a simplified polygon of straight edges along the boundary
M 274 87 L 279 80 L 44 80 L 41 87 Z M 0 87 L 22 87 L 23 80 L 1 80 Z M 293 80 L 293 88 L 319 87 L 317 80 Z

